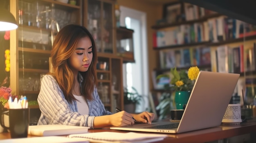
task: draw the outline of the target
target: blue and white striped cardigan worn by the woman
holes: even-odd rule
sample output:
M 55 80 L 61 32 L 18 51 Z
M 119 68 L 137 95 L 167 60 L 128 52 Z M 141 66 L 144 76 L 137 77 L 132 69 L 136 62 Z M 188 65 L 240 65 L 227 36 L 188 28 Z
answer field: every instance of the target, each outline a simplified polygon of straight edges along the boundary
M 112 114 L 105 110 L 99 98 L 97 88 L 93 92 L 93 100 L 87 100 L 89 114 L 79 114 L 76 101 L 67 102 L 60 86 L 58 86 L 52 75 L 45 75 L 43 77 L 37 101 L 41 110 L 38 125 L 63 124 L 93 128 L 95 116 Z

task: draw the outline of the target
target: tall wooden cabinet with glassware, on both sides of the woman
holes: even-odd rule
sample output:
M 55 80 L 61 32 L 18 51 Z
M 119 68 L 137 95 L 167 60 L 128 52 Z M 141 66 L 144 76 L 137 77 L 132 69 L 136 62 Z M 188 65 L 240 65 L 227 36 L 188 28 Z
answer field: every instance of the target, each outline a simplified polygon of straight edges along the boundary
M 97 43 L 98 90 L 106 109 L 123 109 L 123 60 L 114 55 L 113 5 L 113 0 L 76 0 L 76 5 L 55 0 L 10 0 L 10 11 L 19 23 L 10 37 L 10 86 L 14 94 L 37 100 L 40 79 L 50 72 L 49 57 L 58 28 L 79 24 L 89 28 Z

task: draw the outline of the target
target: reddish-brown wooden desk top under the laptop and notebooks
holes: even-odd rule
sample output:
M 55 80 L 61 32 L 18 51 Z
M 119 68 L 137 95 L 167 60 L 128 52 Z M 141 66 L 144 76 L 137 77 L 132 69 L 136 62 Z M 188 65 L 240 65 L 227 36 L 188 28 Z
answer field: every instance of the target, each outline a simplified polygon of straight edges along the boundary
M 121 130 L 110 129 L 93 129 L 89 132 L 127 132 Z M 148 132 L 144 132 L 148 133 Z M 230 138 L 233 136 L 239 136 L 242 134 L 255 134 L 256 133 L 256 121 L 248 121 L 241 123 L 240 125 L 220 125 L 215 128 L 208 128 L 204 130 L 196 130 L 192 132 L 180 133 L 180 134 L 168 134 L 168 137 L 163 141 L 157 143 L 205 143 L 209 141 L 216 141 L 221 139 Z M 159 133 L 162 134 L 162 133 Z M 34 136 L 28 136 L 34 137 Z M 0 133 L 0 139 L 10 139 L 9 133 Z M 251 136 L 252 143 L 256 142 L 256 137 Z

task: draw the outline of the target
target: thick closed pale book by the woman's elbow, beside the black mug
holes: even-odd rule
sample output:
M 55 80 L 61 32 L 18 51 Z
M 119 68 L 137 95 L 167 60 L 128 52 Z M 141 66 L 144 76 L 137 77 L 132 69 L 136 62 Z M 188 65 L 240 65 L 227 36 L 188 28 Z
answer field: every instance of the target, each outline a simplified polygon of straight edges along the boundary
M 29 125 L 28 134 L 34 136 L 59 136 L 68 134 L 82 134 L 88 132 L 89 127 L 74 125 Z

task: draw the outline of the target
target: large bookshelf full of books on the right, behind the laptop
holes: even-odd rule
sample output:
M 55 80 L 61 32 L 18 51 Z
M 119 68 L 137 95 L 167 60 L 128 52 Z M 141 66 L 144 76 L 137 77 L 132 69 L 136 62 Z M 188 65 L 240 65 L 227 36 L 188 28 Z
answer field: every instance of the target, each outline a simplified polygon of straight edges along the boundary
M 187 0 L 185 1 L 189 2 Z M 154 85 L 152 92 L 157 92 L 157 96 L 161 97 L 159 98 L 159 105 L 161 104 L 161 106 L 158 106 L 159 114 L 162 114 L 166 110 L 166 106 L 162 101 L 169 98 L 172 100 L 172 98 L 171 91 L 163 88 L 165 86 L 162 86 L 163 84 L 166 85 L 169 83 L 167 79 L 157 81 L 156 77 L 163 73 L 169 74 L 170 68 L 174 67 L 177 67 L 177 70 L 186 70 L 191 66 L 198 66 L 200 70 L 239 73 L 240 78 L 233 93 L 233 100 L 231 101 L 232 103 L 239 103 L 240 101 L 238 99 L 244 96 L 247 105 L 255 105 L 256 26 L 234 19 L 234 17 L 228 17 L 225 15 L 226 13 L 212 12 L 206 15 L 206 9 L 199 7 L 200 4 L 198 6 L 193 5 L 195 4 L 195 0 L 192 0 L 191 3 L 192 5 L 184 2 L 180 3 L 182 5 L 181 15 L 184 15 L 185 20 L 173 23 L 165 22 L 151 27 L 155 30 L 155 33 L 153 33 L 153 50 L 159 53 L 159 66 L 152 71 Z M 186 10 L 186 6 L 188 5 L 190 5 L 190 13 L 192 12 L 194 15 L 198 14 L 198 16 L 192 16 L 193 18 L 191 19 L 191 15 L 186 12 L 188 11 Z M 202 15 L 202 13 L 204 14 Z M 175 14 L 174 16 L 180 17 L 180 15 Z M 187 16 L 190 18 L 187 18 Z M 182 66 L 177 66 L 176 62 L 170 64 L 170 61 L 176 60 L 175 51 L 188 48 L 192 49 L 191 51 L 198 48 L 201 50 L 209 48 L 207 53 L 210 55 L 210 59 L 207 59 L 207 61 L 210 62 L 201 64 L 205 60 L 199 54 L 200 62 L 191 62 L 190 65 L 183 63 Z M 183 56 L 183 60 L 187 58 L 187 55 L 183 54 Z M 191 54 L 189 56 L 191 61 L 194 60 L 194 56 L 192 56 L 193 58 L 191 58 Z M 243 105 L 243 103 L 241 104 Z M 170 109 L 168 108 L 167 110 Z

